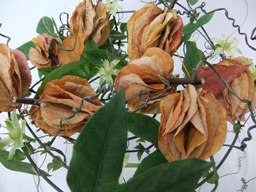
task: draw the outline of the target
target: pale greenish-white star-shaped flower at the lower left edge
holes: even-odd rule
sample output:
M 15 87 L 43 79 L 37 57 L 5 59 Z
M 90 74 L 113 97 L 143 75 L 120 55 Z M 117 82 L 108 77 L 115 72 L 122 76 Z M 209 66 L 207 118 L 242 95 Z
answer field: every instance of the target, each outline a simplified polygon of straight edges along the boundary
M 11 120 L 7 119 L 5 121 L 6 126 L 1 126 L 6 128 L 8 133 L 3 133 L 9 135 L 9 137 L 4 137 L 0 139 L 0 149 L 11 148 L 9 151 L 8 160 L 12 159 L 17 148 L 23 147 L 23 134 L 26 126 L 26 120 L 19 124 L 17 113 L 14 110 L 11 114 Z

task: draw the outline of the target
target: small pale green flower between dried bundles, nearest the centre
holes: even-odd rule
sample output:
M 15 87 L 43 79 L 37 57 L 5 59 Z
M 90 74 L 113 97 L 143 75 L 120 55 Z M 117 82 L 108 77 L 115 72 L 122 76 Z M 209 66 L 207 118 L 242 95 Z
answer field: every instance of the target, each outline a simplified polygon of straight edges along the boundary
M 117 69 L 114 67 L 119 63 L 120 60 L 114 59 L 113 61 L 104 60 L 103 67 L 99 68 L 99 73 L 102 75 L 99 79 L 99 84 L 102 85 L 104 82 L 106 84 L 113 84 L 112 75 L 116 76 L 118 73 Z

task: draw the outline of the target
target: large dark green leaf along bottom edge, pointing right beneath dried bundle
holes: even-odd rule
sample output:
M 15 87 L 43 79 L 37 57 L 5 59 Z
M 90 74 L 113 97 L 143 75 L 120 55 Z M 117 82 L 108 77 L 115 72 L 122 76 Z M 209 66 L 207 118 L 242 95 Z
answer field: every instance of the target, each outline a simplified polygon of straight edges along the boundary
M 116 192 L 192 192 L 212 165 L 199 159 L 163 163 L 133 177 Z

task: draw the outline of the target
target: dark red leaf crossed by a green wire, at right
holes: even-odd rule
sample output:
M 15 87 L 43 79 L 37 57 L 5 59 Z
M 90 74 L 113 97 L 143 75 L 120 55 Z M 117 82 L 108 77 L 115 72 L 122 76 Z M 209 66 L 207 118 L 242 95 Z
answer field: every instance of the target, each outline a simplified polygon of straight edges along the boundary
M 227 66 L 217 64 L 213 64 L 212 66 L 215 67 L 227 83 L 230 83 L 234 77 L 238 76 L 248 67 L 248 65 Z M 207 90 L 207 93 L 218 94 L 225 88 L 225 85 L 216 73 L 209 67 L 201 66 L 198 69 L 198 79 L 201 78 L 204 78 L 204 84 L 197 85 L 196 87 L 202 87 L 204 90 Z

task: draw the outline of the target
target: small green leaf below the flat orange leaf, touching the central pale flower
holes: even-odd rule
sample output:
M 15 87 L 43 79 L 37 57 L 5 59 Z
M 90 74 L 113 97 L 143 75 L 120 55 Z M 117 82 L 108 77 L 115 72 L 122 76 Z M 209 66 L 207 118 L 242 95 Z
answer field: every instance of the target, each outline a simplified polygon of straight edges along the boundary
M 98 67 L 102 67 L 102 60 L 113 60 L 112 53 L 104 49 L 85 49 L 82 57 Z

